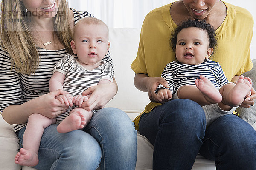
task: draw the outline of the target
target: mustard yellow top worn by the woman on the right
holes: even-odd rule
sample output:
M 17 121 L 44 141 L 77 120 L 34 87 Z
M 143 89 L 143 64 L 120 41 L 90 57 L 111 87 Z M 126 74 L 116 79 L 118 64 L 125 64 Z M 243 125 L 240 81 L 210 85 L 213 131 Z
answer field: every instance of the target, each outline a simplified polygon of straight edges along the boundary
M 218 47 L 211 58 L 220 63 L 227 79 L 231 81 L 235 75 L 241 75 L 253 67 L 250 59 L 253 17 L 244 8 L 224 3 L 227 16 L 216 30 Z M 169 45 L 171 32 L 177 27 L 169 13 L 171 5 L 156 8 L 145 17 L 137 57 L 131 64 L 135 73 L 160 77 L 166 64 L 176 60 L 175 52 Z M 161 104 L 150 102 L 142 113 L 149 113 L 158 105 Z M 137 130 L 141 114 L 134 119 Z

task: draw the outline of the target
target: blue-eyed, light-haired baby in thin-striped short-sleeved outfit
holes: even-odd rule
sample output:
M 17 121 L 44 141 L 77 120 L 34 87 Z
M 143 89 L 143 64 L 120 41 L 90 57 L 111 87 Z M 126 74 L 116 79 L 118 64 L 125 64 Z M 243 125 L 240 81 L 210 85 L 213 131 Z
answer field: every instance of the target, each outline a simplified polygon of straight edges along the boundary
M 112 63 L 107 62 L 108 58 L 105 58 L 110 45 L 108 26 L 94 17 L 83 18 L 74 26 L 73 37 L 70 42 L 73 55 L 67 54 L 56 63 L 49 82 L 50 92 L 58 89 L 65 92 L 55 99 L 66 104 L 66 107 L 53 119 L 37 113 L 29 116 L 23 136 L 23 148 L 15 156 L 16 164 L 38 164 L 41 129 L 52 124 L 58 124 L 59 133 L 84 129 L 93 114 L 99 111 L 82 106 L 82 103 L 90 98 L 90 92 L 84 96 L 84 91 L 92 86 L 113 81 Z M 28 133 L 33 135 L 25 135 Z

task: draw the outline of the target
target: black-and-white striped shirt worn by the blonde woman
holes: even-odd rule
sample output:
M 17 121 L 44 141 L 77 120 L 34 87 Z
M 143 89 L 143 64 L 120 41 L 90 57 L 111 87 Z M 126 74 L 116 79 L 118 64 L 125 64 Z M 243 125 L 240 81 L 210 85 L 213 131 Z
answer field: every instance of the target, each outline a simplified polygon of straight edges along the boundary
M 84 11 L 78 12 L 72 10 L 75 24 L 84 17 L 93 17 L 92 14 Z M 22 50 L 22 49 L 21 49 Z M 38 96 L 49 93 L 49 80 L 53 74 L 53 68 L 68 52 L 66 49 L 46 50 L 37 47 L 39 54 L 39 67 L 35 74 L 20 74 L 12 69 L 12 59 L 8 52 L 0 45 L 0 113 L 10 105 L 20 105 Z M 112 59 L 108 53 L 104 61 L 112 67 Z M 15 67 L 15 64 L 14 64 Z M 16 125 L 15 132 L 26 126 L 26 124 Z

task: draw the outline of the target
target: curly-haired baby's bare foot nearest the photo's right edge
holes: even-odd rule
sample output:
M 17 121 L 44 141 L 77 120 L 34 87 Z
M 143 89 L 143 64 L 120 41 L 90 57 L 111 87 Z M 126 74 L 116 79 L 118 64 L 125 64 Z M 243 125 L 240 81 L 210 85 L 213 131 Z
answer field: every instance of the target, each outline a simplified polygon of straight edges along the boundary
M 250 96 L 250 90 L 253 82 L 249 77 L 240 76 L 236 85 L 230 90 L 230 106 L 236 107 L 241 105 L 244 98 Z

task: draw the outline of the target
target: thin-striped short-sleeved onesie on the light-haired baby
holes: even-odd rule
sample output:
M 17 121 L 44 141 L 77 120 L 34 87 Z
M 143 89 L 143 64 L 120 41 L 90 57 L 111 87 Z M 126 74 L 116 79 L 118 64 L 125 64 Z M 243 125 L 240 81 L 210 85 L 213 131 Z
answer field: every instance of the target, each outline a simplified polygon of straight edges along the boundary
M 99 67 L 87 70 L 77 62 L 76 56 L 67 54 L 57 62 L 53 72 L 63 73 L 65 75 L 63 90 L 69 92 L 72 96 L 77 96 L 91 86 L 97 85 L 100 80 L 113 81 L 114 71 L 111 65 L 105 61 L 100 61 L 100 63 Z M 76 106 L 69 107 L 65 113 L 56 117 L 57 122 L 60 123 L 64 120 L 74 108 Z M 96 111 L 98 110 L 93 110 L 94 113 Z

